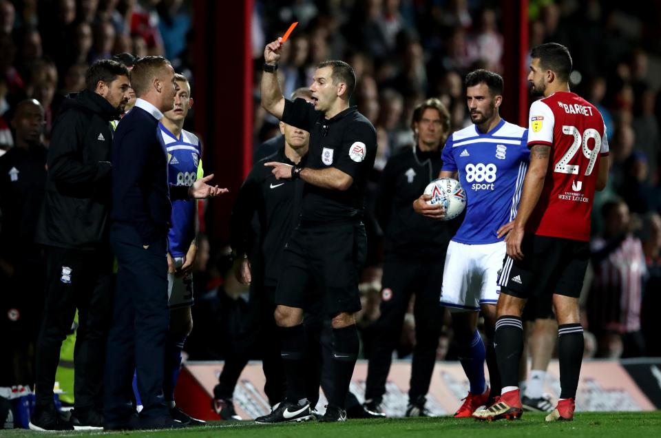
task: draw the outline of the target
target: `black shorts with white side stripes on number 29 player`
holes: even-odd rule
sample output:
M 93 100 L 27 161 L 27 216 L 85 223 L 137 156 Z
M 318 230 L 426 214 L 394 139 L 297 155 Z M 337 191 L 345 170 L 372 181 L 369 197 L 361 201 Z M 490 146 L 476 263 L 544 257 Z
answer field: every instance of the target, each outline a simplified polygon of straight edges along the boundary
M 498 280 L 501 293 L 543 300 L 554 293 L 578 298 L 589 260 L 588 242 L 525 235 L 523 260 L 505 256 Z

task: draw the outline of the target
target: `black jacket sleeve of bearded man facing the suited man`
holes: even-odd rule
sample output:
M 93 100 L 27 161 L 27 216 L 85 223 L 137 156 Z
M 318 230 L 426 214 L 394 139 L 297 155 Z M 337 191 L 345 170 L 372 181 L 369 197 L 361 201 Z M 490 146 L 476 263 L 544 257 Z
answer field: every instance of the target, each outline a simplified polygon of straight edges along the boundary
M 85 120 L 76 111 L 67 111 L 55 125 L 48 147 L 48 173 L 54 183 L 90 185 L 109 178 L 109 161 L 83 163 Z

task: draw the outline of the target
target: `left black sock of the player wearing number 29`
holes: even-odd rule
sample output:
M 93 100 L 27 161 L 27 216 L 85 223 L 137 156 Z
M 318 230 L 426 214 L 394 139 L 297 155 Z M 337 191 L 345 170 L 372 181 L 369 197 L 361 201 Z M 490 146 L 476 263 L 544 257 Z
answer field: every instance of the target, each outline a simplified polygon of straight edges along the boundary
M 505 315 L 496 321 L 496 358 L 501 373 L 501 385 L 518 387 L 518 363 L 523 353 L 523 324 L 521 317 Z

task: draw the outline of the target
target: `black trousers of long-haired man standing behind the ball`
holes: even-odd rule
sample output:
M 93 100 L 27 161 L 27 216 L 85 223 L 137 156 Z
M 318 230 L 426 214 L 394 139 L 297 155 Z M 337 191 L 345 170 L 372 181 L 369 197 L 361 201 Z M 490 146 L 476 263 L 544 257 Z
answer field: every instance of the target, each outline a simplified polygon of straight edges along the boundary
M 428 393 L 443 321 L 439 300 L 444 262 L 444 257 L 433 262 L 392 258 L 384 262 L 381 316 L 370 326 L 374 337 L 368 357 L 365 399 L 380 398 L 386 393 L 392 351 L 399 341 L 404 315 L 414 293 L 416 342 L 408 396 L 415 401 Z

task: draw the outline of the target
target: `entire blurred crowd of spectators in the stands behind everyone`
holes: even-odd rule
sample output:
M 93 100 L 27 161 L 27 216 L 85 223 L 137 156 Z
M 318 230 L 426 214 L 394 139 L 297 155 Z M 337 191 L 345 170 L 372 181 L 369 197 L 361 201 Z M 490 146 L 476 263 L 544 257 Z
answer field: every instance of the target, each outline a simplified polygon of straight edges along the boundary
M 191 77 L 190 3 L 0 0 L 0 155 L 16 144 L 20 128 L 14 113 L 25 98 L 36 99 L 45 109 L 40 126 L 48 145 L 60 103 L 85 87 L 85 71 L 97 59 L 121 52 L 163 54 L 177 72 Z M 255 152 L 279 132 L 277 121 L 260 106 L 264 45 L 293 21 L 299 24 L 282 49 L 278 71 L 285 96 L 311 83 L 317 63 L 342 59 L 357 74 L 353 105 L 377 129 L 377 160 L 365 218 L 370 251 L 361 284 L 363 310 L 357 315 L 364 343 L 370 342 L 370 323 L 379 316 L 381 300 L 381 229 L 373 218 L 380 173 L 388 157 L 412 145 L 412 110 L 425 98 L 438 97 L 448 107 L 453 131 L 470 124 L 463 77 L 476 68 L 502 72 L 507 41 L 501 28 L 501 3 L 254 2 Z M 661 304 L 661 28 L 655 22 L 661 11 L 629 3 L 529 1 L 529 45 L 548 41 L 567 45 L 574 58 L 572 91 L 599 108 L 609 137 L 612 167 L 607 189 L 595 202 L 594 254 L 582 300 L 583 324 L 591 332 L 586 336 L 586 357 L 661 356 L 661 345 L 653 335 L 653 313 Z M 507 88 L 517 85 L 505 84 L 505 105 Z M 198 90 L 203 88 L 198 84 Z M 0 236 L 3 232 L 0 229 Z M 200 236 L 199 246 L 198 305 L 193 307 L 195 326 L 186 349 L 191 359 L 222 359 L 246 329 L 249 294 L 233 278 L 224 242 Z M 11 253 L 11 248 L 1 248 L 0 286 L 10 282 Z M 9 293 L 4 286 L 0 289 L 0 294 Z M 407 357 L 415 343 L 412 314 L 406 317 L 402 333 L 397 355 Z M 439 359 L 456 359 L 450 328 L 443 332 L 440 345 Z

